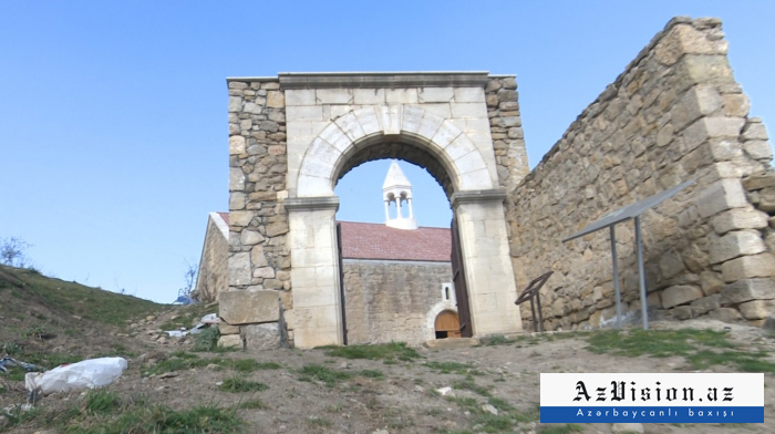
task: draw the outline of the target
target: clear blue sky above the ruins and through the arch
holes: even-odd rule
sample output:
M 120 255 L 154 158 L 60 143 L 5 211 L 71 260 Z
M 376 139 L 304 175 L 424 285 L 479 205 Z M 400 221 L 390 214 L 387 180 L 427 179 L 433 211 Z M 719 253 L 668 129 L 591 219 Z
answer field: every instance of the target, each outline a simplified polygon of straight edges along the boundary
M 775 2 L 3 2 L 0 238 L 49 275 L 170 301 L 228 206 L 226 76 L 515 73 L 534 166 L 679 14 L 724 21 L 752 115 L 775 120 Z M 340 218 L 383 220 L 388 165 L 342 179 Z M 420 224 L 448 225 L 441 187 L 403 167 Z

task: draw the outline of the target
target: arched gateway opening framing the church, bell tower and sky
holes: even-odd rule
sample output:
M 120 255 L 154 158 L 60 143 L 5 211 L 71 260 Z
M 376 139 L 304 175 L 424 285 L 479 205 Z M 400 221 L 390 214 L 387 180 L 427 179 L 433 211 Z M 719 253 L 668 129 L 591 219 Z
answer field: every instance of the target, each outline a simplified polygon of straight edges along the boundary
M 455 309 L 445 192 L 423 167 L 396 159 L 354 167 L 334 192 L 345 343 L 435 339 L 428 310 L 444 300 Z M 417 202 L 399 207 L 402 196 Z

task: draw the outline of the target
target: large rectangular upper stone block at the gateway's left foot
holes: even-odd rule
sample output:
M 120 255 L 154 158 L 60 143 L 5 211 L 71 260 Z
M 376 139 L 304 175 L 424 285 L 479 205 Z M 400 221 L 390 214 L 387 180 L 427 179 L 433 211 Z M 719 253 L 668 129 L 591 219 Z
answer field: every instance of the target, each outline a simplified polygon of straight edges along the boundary
M 220 318 L 229 324 L 275 322 L 280 319 L 276 291 L 226 291 L 219 296 Z

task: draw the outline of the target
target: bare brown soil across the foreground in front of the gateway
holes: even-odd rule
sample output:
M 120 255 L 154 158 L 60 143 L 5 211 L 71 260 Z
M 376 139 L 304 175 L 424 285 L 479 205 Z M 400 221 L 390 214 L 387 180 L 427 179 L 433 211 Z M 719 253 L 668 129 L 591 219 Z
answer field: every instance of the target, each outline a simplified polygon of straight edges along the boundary
M 477 414 L 458 404 L 456 399 L 473 399 L 480 405 L 489 397 L 504 400 L 517 411 L 529 414 L 539 402 L 539 373 L 541 372 L 693 372 L 683 358 L 657 359 L 650 356 L 622 358 L 596 354 L 588 350 L 585 335 L 568 339 L 521 339 L 494 347 L 428 350 L 417 349 L 422 359 L 385 364 L 381 360 L 348 360 L 327 355 L 324 350 L 281 349 L 276 351 L 240 351 L 227 353 L 197 353 L 203 359 L 254 359 L 275 362 L 276 370 L 257 370 L 239 374 L 230 368 L 210 366 L 175 371 L 167 376 L 144 376 L 142 371 L 170 356 L 175 351 L 190 347 L 189 340 L 169 340 L 162 344 L 154 333 L 156 327 L 168 321 L 175 312 L 167 312 L 158 320 L 143 324 L 135 337 L 123 337 L 130 369 L 111 390 L 122 396 L 144 395 L 151 402 L 159 402 L 175 410 L 190 409 L 197 404 L 215 403 L 223 407 L 237 407 L 240 403 L 260 400 L 264 409 L 239 410 L 246 422 L 247 433 L 389 433 L 477 432 L 485 428 L 477 424 Z M 654 328 L 731 328 L 735 342 L 772 351 L 775 341 L 764 331 L 743 326 L 720 322 L 655 323 Z M 136 327 L 135 327 L 136 328 Z M 114 332 L 116 333 L 116 332 Z M 121 332 L 118 332 L 121 334 Z M 111 351 L 110 337 L 84 334 L 81 341 L 102 351 Z M 52 340 L 53 341 L 53 340 Z M 46 341 L 44 344 L 53 344 Z M 218 360 L 218 359 L 214 359 Z M 434 369 L 434 362 L 457 362 L 467 368 L 443 373 Z M 224 363 L 220 363 L 221 365 Z M 332 386 L 312 379 L 303 381 L 299 374 L 304 365 L 321 365 L 351 376 L 333 382 Z M 436 365 L 437 366 L 437 365 Z M 370 378 L 363 371 L 381 372 L 381 378 Z M 713 366 L 712 372 L 734 372 L 734 366 Z M 235 375 L 264 383 L 260 392 L 231 393 L 219 391 L 220 382 Z M 6 381 L 6 380 L 3 380 Z M 473 382 L 473 383 L 472 383 Z M 454 399 L 433 391 L 453 386 Z M 466 384 L 469 389 L 467 390 Z M 471 388 L 475 384 L 476 388 Z M 0 406 L 23 402 L 21 384 L 10 384 L 10 391 L 0 395 Z M 484 392 L 483 392 L 484 391 Z M 488 396 L 484 396 L 487 394 Z M 51 395 L 37 405 L 55 409 L 83 399 L 83 394 Z M 468 401 L 471 402 L 471 401 Z M 775 382 L 765 374 L 765 422 L 748 425 L 672 425 L 645 424 L 645 433 L 772 433 L 775 432 Z M 32 420 L 11 428 L 10 433 L 33 433 L 45 421 Z M 610 424 L 580 425 L 582 433 L 611 433 Z M 529 422 L 514 425 L 506 432 L 541 432 L 545 425 Z

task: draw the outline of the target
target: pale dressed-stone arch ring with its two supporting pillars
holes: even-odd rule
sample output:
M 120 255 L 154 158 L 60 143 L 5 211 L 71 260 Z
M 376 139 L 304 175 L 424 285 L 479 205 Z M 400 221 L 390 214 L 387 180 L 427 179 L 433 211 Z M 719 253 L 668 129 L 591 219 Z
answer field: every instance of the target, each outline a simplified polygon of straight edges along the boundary
M 332 120 L 311 140 L 298 172 L 289 167 L 292 193 L 285 207 L 296 345 L 343 342 L 334 218 L 339 198 L 333 189 L 350 168 L 386 156 L 426 167 L 450 197 L 458 218 L 474 333 L 520 330 L 502 205 L 505 192 L 497 188 L 494 158 L 483 155 L 451 120 L 417 105 L 376 104 Z

